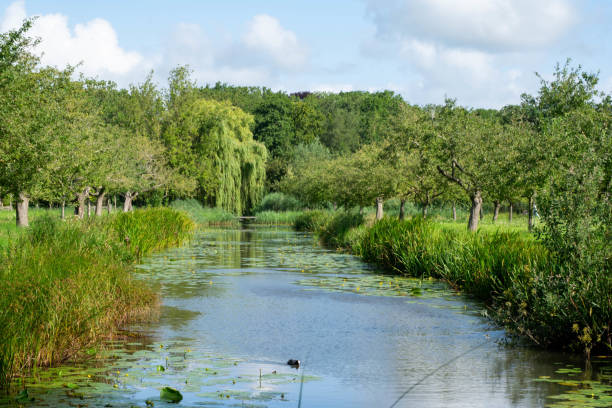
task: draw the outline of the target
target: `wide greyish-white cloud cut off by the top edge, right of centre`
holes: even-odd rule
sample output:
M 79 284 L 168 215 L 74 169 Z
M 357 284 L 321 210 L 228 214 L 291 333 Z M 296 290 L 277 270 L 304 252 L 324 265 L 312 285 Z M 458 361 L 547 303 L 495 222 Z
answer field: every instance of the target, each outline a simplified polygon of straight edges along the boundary
M 577 22 L 569 0 L 367 0 L 381 38 L 489 52 L 542 48 Z

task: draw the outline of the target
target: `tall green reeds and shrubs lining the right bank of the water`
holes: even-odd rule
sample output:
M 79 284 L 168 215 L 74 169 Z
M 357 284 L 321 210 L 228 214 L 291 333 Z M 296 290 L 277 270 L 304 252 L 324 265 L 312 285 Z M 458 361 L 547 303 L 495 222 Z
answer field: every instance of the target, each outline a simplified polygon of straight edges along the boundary
M 540 346 L 612 350 L 609 274 L 567 270 L 524 231 L 485 227 L 474 234 L 453 224 L 418 217 L 372 223 L 358 213 L 320 211 L 296 220 L 325 244 L 392 273 L 449 282 L 484 301 L 511 333 Z

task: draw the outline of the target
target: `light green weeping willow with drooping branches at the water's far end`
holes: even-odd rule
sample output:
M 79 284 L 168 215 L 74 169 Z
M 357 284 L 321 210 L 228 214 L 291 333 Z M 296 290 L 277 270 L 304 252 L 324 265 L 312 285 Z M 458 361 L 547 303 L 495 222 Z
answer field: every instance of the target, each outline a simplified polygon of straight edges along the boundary
M 229 102 L 195 99 L 168 128 L 166 142 L 182 150 L 170 161 L 182 161 L 207 204 L 242 214 L 261 200 L 267 150 L 253 140 L 252 123 L 252 115 Z

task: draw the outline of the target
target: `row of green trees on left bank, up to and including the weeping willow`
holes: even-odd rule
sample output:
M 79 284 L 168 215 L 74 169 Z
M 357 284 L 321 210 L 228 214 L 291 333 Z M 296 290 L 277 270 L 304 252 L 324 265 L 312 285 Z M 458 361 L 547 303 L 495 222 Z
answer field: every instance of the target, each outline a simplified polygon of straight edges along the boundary
M 16 203 L 19 225 L 31 201 L 76 202 L 82 218 L 91 200 L 100 215 L 117 195 L 124 211 L 143 196 L 197 196 L 235 213 L 261 199 L 267 150 L 251 114 L 203 98 L 185 68 L 160 90 L 151 76 L 118 89 L 43 67 L 31 25 L 0 36 L 0 197 Z

